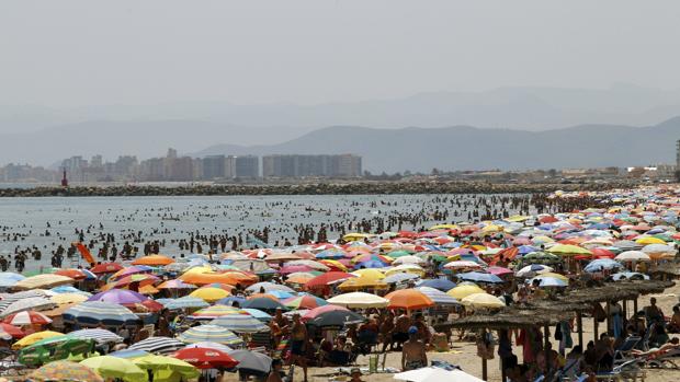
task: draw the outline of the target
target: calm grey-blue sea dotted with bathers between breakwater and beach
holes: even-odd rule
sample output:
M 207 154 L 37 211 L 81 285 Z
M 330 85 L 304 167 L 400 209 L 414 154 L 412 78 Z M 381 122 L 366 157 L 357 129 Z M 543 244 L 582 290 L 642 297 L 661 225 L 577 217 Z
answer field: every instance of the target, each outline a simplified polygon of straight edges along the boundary
M 449 209 L 447 222 L 466 221 L 474 208 L 473 195 L 352 195 L 352 196 L 215 196 L 215 197 L 54 197 L 0 198 L 0 251 L 13 253 L 19 246 L 37 246 L 43 252 L 39 263 L 30 258 L 26 269 L 48 265 L 50 253 L 58 244 L 68 246 L 78 240 L 76 229 L 89 229 L 86 241 L 100 233 L 122 235 L 141 231 L 146 240 L 166 239 L 165 254 L 179 254 L 173 239 L 200 234 L 246 233 L 269 227 L 270 243 L 288 239 L 296 243 L 293 227 L 350 222 L 395 215 L 420 215 L 418 229 L 441 222 L 435 210 Z M 488 196 L 487 196 L 488 198 Z M 461 206 L 458 206 L 458 204 Z M 454 216 L 454 213 L 458 216 Z M 513 213 L 514 211 L 510 211 Z M 100 227 L 101 224 L 101 227 Z M 397 230 L 397 227 L 393 227 Z M 20 234 L 16 236 L 15 234 Z M 338 233 L 329 232 L 329 239 Z M 16 238 L 16 240 L 15 240 Z M 120 245 L 118 245 L 120 248 Z M 65 262 L 66 265 L 67 262 Z

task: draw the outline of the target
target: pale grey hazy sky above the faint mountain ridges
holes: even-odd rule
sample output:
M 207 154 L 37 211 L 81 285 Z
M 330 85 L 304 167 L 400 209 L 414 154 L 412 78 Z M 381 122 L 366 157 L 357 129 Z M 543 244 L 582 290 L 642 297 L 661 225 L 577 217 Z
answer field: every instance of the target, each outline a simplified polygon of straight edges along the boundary
M 0 104 L 680 88 L 680 1 L 7 0 Z

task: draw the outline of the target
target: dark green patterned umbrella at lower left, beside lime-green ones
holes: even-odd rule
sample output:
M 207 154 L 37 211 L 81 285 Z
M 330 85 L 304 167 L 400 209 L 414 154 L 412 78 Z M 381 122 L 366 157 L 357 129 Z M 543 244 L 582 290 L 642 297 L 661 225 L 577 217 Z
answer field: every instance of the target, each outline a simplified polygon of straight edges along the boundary
M 41 366 L 48 361 L 67 359 L 70 355 L 92 351 L 94 351 L 94 340 L 64 335 L 45 338 L 21 349 L 19 362 L 26 366 Z

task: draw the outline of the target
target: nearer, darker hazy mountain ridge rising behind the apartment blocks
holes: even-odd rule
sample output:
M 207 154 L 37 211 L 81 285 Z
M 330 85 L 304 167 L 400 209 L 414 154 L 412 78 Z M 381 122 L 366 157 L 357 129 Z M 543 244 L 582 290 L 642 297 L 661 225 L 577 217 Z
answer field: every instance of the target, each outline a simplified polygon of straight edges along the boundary
M 217 144 L 193 153 L 355 153 L 372 172 L 563 169 L 673 163 L 680 117 L 650 127 L 581 125 L 549 131 L 336 126 L 274 146 Z

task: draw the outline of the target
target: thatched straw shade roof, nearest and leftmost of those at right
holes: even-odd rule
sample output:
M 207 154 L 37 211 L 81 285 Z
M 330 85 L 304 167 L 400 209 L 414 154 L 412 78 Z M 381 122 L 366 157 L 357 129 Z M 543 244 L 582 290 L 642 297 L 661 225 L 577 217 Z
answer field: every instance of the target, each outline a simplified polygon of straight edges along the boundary
M 505 309 L 496 314 L 473 314 L 452 323 L 452 327 L 507 329 L 557 325 L 573 317 L 567 311 Z

